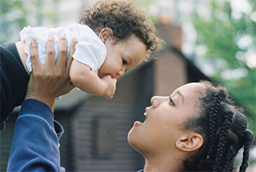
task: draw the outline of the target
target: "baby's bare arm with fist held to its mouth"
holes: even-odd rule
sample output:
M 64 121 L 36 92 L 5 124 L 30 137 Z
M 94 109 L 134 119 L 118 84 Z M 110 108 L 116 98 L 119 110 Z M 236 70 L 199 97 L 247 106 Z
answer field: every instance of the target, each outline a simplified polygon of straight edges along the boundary
M 75 59 L 70 67 L 70 79 L 83 92 L 106 96 L 109 99 L 113 97 L 116 88 L 116 79 L 111 76 L 103 76 L 101 79 L 88 65 Z

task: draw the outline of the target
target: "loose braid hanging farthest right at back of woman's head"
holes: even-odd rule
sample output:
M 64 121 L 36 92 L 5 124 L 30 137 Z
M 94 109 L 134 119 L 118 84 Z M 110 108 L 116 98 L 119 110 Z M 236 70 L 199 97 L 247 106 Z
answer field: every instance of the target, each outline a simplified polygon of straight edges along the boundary
M 249 153 L 250 153 L 250 145 L 253 142 L 253 135 L 250 131 L 245 131 L 245 146 L 243 151 L 243 158 L 242 158 L 242 165 L 240 166 L 239 172 L 246 171 L 246 168 L 248 166 L 248 160 L 249 160 Z

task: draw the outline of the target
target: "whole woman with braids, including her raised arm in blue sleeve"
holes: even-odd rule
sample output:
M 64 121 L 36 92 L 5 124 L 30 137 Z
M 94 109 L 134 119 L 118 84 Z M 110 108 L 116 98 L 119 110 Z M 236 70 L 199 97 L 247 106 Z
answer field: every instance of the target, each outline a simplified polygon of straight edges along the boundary
M 31 51 L 36 52 L 36 46 L 31 46 Z M 59 90 L 74 88 L 67 82 L 70 63 L 66 70 L 65 63 L 42 68 L 34 56 L 26 100 L 16 121 L 8 171 L 64 171 L 58 151 L 63 130 L 54 122 L 52 110 L 54 98 L 64 93 Z M 52 77 L 39 72 L 41 68 Z M 62 72 L 56 72 L 59 69 Z M 63 80 L 55 85 L 49 82 L 59 79 L 60 73 Z M 234 157 L 243 146 L 240 171 L 246 171 L 253 135 L 242 111 L 223 88 L 208 82 L 186 84 L 170 96 L 154 96 L 151 102 L 145 122 L 135 122 L 128 135 L 130 145 L 146 159 L 144 171 L 232 171 Z

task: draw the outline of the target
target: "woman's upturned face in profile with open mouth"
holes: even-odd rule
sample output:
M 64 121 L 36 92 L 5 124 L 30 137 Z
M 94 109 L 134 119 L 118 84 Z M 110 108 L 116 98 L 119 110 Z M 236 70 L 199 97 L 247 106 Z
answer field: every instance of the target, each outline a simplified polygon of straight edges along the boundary
M 144 155 L 170 151 L 185 132 L 183 123 L 197 113 L 203 89 L 203 84 L 191 83 L 177 88 L 170 96 L 152 97 L 144 123 L 136 121 L 129 131 L 130 145 Z

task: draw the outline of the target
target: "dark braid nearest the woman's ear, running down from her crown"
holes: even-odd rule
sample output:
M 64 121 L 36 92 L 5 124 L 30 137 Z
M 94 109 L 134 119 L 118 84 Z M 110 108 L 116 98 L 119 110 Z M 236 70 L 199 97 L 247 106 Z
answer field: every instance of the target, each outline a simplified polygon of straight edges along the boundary
M 216 119 L 218 114 L 219 105 L 221 104 L 221 101 L 226 97 L 226 92 L 223 90 L 219 90 L 216 95 L 214 96 L 214 101 L 212 103 L 212 106 L 210 108 L 209 113 L 209 134 L 210 134 L 210 146 L 208 155 L 211 156 L 214 145 L 215 145 L 215 138 L 216 138 Z

